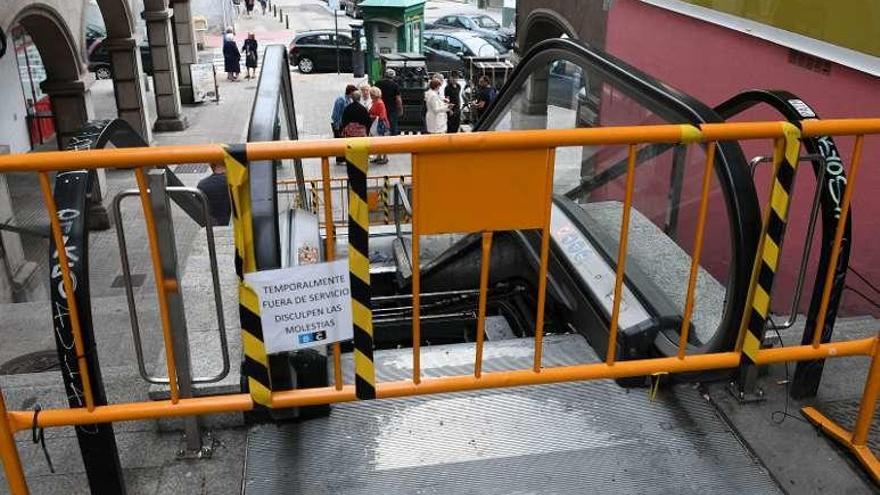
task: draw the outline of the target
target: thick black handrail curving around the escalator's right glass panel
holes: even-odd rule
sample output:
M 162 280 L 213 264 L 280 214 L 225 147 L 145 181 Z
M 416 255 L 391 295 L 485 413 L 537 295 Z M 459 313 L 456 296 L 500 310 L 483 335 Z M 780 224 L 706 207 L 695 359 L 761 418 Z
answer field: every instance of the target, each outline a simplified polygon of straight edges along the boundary
M 523 56 L 475 131 L 491 129 L 501 119 L 532 72 L 552 60 L 580 60 L 596 67 L 611 81 L 628 90 L 627 96 L 669 122 L 700 126 L 723 119 L 709 106 L 645 74 L 631 65 L 582 41 L 564 38 L 544 40 Z M 760 208 L 745 156 L 738 143 L 721 141 L 716 148 L 715 171 L 725 196 L 731 225 L 731 266 L 721 326 L 712 341 L 699 352 L 718 352 L 733 347 L 750 285 L 750 274 L 760 235 Z

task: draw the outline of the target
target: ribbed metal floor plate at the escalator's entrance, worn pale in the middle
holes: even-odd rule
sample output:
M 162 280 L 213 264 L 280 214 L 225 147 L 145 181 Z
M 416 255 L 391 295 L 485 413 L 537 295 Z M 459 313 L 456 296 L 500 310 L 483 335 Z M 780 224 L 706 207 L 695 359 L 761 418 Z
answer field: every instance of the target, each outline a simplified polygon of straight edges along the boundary
M 487 342 L 484 370 L 530 364 L 532 345 Z M 423 351 L 424 376 L 473 366 L 472 344 Z M 377 380 L 409 376 L 411 352 L 376 351 Z M 544 352 L 547 366 L 596 359 L 578 335 L 548 335 Z M 256 426 L 244 492 L 780 493 L 689 386 L 650 402 L 610 380 L 337 404 L 327 417 Z

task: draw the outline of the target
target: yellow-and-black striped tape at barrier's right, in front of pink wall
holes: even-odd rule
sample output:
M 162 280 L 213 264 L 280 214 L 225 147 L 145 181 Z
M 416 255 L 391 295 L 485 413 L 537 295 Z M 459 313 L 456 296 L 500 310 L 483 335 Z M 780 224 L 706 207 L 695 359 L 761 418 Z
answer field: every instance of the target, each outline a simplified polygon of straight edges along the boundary
M 773 152 L 773 186 L 770 207 L 764 215 L 758 252 L 752 269 L 752 283 L 747 311 L 741 324 L 742 360 L 748 366 L 756 364 L 758 350 L 764 339 L 767 317 L 770 313 L 770 295 L 773 279 L 779 266 L 782 239 L 785 236 L 792 186 L 800 152 L 800 129 L 783 123 L 784 138 L 778 140 Z

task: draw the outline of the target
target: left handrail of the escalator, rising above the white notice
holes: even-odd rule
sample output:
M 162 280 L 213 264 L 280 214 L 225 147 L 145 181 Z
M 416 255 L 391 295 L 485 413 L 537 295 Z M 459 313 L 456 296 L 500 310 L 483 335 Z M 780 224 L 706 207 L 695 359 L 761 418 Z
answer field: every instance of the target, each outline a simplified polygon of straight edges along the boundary
M 248 142 L 299 138 L 287 57 L 287 49 L 283 45 L 270 45 L 263 53 L 257 93 L 248 123 Z M 276 126 L 279 115 L 287 124 L 287 136 L 280 136 Z M 305 201 L 302 161 L 299 159 L 294 160 L 294 173 L 298 184 L 299 204 L 308 204 Z M 282 239 L 278 230 L 276 162 L 272 160 L 248 162 L 248 177 L 256 268 L 257 270 L 280 268 Z

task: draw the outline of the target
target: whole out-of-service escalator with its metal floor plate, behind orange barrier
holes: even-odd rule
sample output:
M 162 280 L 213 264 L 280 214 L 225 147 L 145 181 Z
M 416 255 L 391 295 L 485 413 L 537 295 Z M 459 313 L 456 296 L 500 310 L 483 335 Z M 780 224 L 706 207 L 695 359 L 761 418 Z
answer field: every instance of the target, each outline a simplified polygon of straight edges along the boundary
M 272 48 L 267 64 L 270 56 L 286 55 Z M 264 69 L 258 100 L 266 77 Z M 580 91 L 567 96 L 554 91 L 564 86 L 559 78 L 568 78 L 568 87 Z M 263 118 L 276 119 L 279 108 Z M 607 54 L 570 40 L 550 40 L 522 59 L 478 130 L 721 121 L 708 106 Z M 556 156 L 545 367 L 604 357 L 626 147 L 560 149 Z M 702 170 L 703 161 L 699 146 L 638 150 L 631 254 L 620 345 L 614 350 L 620 359 L 674 352 L 699 197 L 700 174 L 692 170 Z M 713 254 L 705 256 L 698 275 L 689 352 L 730 348 L 736 338 L 760 227 L 755 188 L 738 144 L 719 143 L 715 163 L 713 235 L 707 244 Z M 271 181 L 277 173 L 273 164 L 251 163 L 250 170 L 252 181 Z M 291 239 L 302 229 L 321 238 L 318 224 L 301 227 L 286 220 L 274 192 L 252 190 L 252 201 L 265 206 L 265 222 L 255 222 L 254 231 L 255 239 L 266 242 L 265 249 L 258 247 L 266 260 L 258 260 L 260 268 L 283 266 L 282 253 L 291 252 Z M 294 216 L 309 213 L 298 210 Z M 408 379 L 412 373 L 412 244 L 406 225 L 398 227 L 370 229 L 379 382 Z M 538 241 L 533 231 L 495 234 L 484 372 L 531 366 Z M 345 255 L 345 242 L 339 239 L 338 256 Z M 421 374 L 470 373 L 479 236 L 423 236 L 421 244 Z M 353 383 L 353 353 L 346 345 L 343 351 L 344 381 Z M 297 364 L 297 356 L 284 359 L 290 386 L 317 386 L 332 376 L 329 366 Z M 336 404 L 308 421 L 255 425 L 248 435 L 243 486 L 251 495 L 608 491 L 780 492 L 691 386 L 661 391 L 652 403 L 645 393 L 611 380 Z

